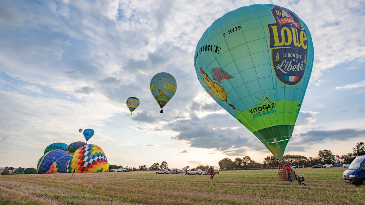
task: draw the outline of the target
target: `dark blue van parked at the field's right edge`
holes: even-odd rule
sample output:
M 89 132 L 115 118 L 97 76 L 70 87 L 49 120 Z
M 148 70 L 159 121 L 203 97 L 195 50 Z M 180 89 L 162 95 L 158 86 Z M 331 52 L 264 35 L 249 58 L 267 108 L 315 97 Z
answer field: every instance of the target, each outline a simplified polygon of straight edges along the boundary
M 365 155 L 355 158 L 342 175 L 345 182 L 365 185 Z

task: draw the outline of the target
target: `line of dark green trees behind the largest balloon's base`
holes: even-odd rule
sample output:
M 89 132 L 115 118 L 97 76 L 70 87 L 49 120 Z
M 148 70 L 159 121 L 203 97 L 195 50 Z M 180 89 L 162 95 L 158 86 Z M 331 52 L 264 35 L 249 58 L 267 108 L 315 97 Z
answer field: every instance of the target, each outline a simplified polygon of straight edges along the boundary
M 317 157 L 309 157 L 302 155 L 284 155 L 284 159 L 293 165 L 299 165 L 304 167 L 311 167 L 317 164 L 350 164 L 357 156 L 365 155 L 365 145 L 364 142 L 359 142 L 356 147 L 352 148 L 352 153 L 347 153 L 345 155 L 335 155 L 330 150 L 320 150 L 318 151 Z M 226 169 L 240 169 L 240 168 L 266 168 L 266 167 L 277 167 L 278 160 L 274 156 L 267 156 L 262 163 L 256 162 L 249 156 L 241 158 L 235 158 L 232 161 L 229 158 L 224 158 L 218 162 L 221 170 Z

